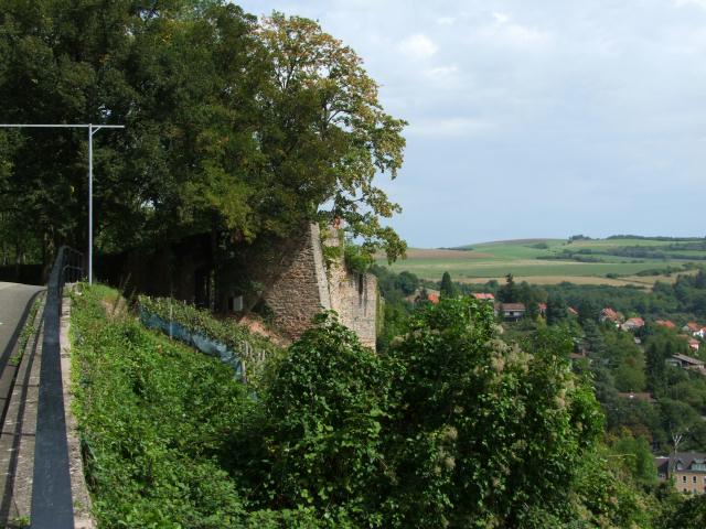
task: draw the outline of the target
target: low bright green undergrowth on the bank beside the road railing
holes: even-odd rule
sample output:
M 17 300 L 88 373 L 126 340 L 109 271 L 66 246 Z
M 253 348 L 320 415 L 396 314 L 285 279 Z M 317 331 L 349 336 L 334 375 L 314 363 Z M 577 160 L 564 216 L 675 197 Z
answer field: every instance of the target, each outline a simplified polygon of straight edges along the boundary
M 233 527 L 244 495 L 218 465 L 252 403 L 218 361 L 72 298 L 75 413 L 101 527 Z

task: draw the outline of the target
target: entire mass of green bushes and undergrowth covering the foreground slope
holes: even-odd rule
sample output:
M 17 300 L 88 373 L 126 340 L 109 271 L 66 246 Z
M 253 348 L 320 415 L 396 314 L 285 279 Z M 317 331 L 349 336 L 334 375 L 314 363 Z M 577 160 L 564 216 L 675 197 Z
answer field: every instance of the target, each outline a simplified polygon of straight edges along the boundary
M 217 360 L 73 298 L 76 413 L 100 527 L 649 527 L 608 464 L 561 333 L 532 354 L 443 299 L 376 355 L 321 314 L 253 395 Z M 422 359 L 422 361 L 420 361 Z

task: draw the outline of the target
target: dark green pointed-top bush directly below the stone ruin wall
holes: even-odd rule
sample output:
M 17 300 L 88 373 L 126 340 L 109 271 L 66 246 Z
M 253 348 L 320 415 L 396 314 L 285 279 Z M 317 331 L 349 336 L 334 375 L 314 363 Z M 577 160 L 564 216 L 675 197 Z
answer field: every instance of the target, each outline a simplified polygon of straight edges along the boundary
M 265 401 L 270 464 L 264 482 L 278 507 L 313 506 L 325 517 L 374 520 L 385 472 L 382 430 L 389 374 L 354 333 L 322 314 L 293 344 Z

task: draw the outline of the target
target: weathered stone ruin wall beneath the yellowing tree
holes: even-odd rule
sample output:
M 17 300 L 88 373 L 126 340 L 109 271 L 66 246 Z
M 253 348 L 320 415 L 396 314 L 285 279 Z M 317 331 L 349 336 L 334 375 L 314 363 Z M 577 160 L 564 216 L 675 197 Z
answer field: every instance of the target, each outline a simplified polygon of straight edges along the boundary
M 338 246 L 338 234 L 332 231 L 324 244 Z M 282 257 L 287 260 L 281 273 L 265 293 L 265 302 L 275 314 L 274 323 L 297 338 L 311 326 L 318 312 L 332 309 L 363 345 L 374 349 L 377 278 L 349 272 L 342 259 L 327 271 L 318 225 L 311 225 L 295 249 Z

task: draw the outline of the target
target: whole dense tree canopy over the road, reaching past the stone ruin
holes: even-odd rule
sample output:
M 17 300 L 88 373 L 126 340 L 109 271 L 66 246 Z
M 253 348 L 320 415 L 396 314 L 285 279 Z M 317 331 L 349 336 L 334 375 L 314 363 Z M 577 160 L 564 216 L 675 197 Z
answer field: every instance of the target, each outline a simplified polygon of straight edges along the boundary
M 101 250 L 248 242 L 338 217 L 365 251 L 405 251 L 381 224 L 399 207 L 376 186 L 402 166 L 405 122 L 311 20 L 221 0 L 9 0 L 0 97 L 4 122 L 126 125 L 94 142 Z M 0 229 L 18 250 L 83 246 L 86 148 L 85 130 L 0 131 Z

